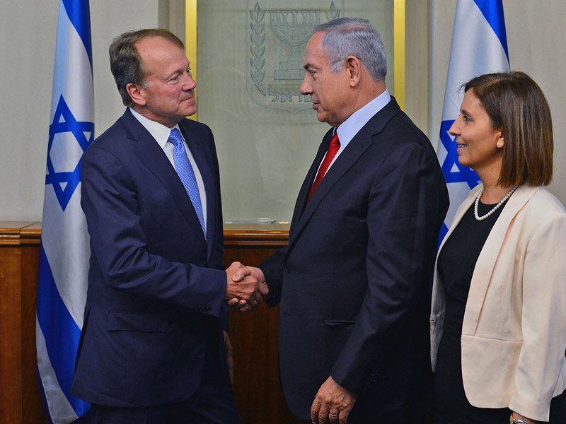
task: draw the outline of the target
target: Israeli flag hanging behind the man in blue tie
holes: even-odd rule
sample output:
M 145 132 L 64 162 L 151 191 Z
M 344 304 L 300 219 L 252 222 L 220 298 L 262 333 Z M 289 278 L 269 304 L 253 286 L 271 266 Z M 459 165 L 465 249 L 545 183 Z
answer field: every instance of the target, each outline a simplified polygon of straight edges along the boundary
M 90 409 L 69 390 L 86 302 L 90 249 L 81 158 L 93 141 L 93 121 L 88 0 L 60 0 L 35 331 L 40 389 L 54 424 L 72 423 Z

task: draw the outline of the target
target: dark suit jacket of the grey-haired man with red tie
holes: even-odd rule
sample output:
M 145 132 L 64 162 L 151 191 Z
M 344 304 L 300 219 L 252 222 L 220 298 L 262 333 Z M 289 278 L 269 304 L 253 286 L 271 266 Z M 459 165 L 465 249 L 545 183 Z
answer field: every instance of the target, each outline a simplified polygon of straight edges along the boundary
M 268 303 L 281 302 L 282 389 L 291 411 L 308 418 L 332 375 L 359 394 L 352 422 L 415 419 L 425 413 L 431 375 L 428 317 L 449 204 L 444 177 L 431 143 L 392 99 L 307 204 L 331 134 L 299 192 L 289 245 L 260 264 Z

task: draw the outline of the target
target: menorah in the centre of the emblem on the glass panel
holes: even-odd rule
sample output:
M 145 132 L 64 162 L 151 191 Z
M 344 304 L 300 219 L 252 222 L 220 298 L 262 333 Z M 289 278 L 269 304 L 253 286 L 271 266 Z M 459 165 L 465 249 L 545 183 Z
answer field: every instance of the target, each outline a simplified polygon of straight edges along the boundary
M 299 16 L 300 22 L 299 22 Z M 290 21 L 289 21 L 290 18 Z M 301 59 L 301 45 L 313 35 L 313 30 L 320 23 L 320 11 L 270 11 L 273 33 L 285 44 L 291 46 L 287 61 L 279 62 L 275 69 L 276 80 L 303 79 L 304 69 Z

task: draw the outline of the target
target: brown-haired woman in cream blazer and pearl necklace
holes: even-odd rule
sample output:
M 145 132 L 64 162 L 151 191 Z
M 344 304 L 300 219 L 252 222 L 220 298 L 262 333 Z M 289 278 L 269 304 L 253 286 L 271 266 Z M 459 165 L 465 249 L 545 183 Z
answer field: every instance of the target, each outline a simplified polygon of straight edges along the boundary
M 547 422 L 551 399 L 566 388 L 566 211 L 558 199 L 540 187 L 548 184 L 552 175 L 550 112 L 542 91 L 524 73 L 480 76 L 467 83 L 465 90 L 461 116 L 450 131 L 456 136 L 461 165 L 478 172 L 483 184 L 475 187 L 456 211 L 439 252 L 474 207 L 476 220 L 502 210 L 497 212 L 499 216 L 473 267 L 461 327 L 461 375 L 454 378 L 463 381 L 470 411 L 509 408 L 508 413 L 513 411 L 511 423 Z M 537 107 L 530 107 L 529 102 L 538 102 Z M 548 111 L 548 120 L 537 115 L 527 122 L 517 110 L 528 117 L 543 114 L 543 118 Z M 491 131 L 480 128 L 482 113 Z M 529 124 L 536 131 L 529 131 Z M 514 131 L 515 126 L 522 126 L 521 130 Z M 537 132 L 538 141 L 525 142 L 533 132 Z M 512 146 L 514 143 L 520 148 Z M 523 153 L 529 149 L 536 152 L 537 148 L 538 153 Z M 514 184 L 518 187 L 512 187 Z M 488 189 L 490 198 L 486 196 Z M 480 217 L 480 200 L 483 204 L 499 201 L 499 206 Z M 435 372 L 445 311 L 445 285 L 437 259 L 430 317 Z M 437 391 L 442 388 L 435 387 Z M 433 423 L 434 411 L 441 415 L 445 408 L 441 400 L 438 403 L 433 399 Z M 555 404 L 558 406 L 553 409 L 560 413 L 561 402 L 557 399 Z M 455 416 L 453 422 L 468 420 Z M 477 422 L 487 423 L 487 418 Z

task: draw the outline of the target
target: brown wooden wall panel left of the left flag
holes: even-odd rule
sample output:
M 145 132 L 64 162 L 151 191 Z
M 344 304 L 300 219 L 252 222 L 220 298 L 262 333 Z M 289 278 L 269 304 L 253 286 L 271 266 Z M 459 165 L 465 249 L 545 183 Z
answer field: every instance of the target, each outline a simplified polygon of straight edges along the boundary
M 47 423 L 35 372 L 39 242 L 39 223 L 0 223 L 0 423 Z

